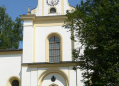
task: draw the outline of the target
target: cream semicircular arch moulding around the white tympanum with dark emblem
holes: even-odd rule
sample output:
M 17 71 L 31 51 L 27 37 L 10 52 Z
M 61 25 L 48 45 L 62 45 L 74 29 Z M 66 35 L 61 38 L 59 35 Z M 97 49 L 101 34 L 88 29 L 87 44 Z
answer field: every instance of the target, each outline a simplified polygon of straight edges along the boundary
M 42 82 L 43 82 L 43 79 L 50 73 L 58 73 L 60 74 L 64 80 L 65 80 L 65 83 L 66 83 L 66 86 L 69 86 L 69 77 L 67 76 L 67 74 L 62 71 L 61 69 L 59 68 L 49 68 L 45 71 L 43 71 L 40 76 L 38 77 L 38 86 L 42 86 Z M 40 81 L 39 81 L 40 80 Z

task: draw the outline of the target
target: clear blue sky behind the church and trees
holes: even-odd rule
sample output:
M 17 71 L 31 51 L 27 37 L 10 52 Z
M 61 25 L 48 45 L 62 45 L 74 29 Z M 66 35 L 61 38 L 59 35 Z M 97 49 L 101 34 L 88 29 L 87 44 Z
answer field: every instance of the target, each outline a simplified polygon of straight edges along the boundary
M 85 1 L 85 0 L 84 0 Z M 68 0 L 71 6 L 80 4 L 81 0 Z M 0 0 L 0 6 L 6 7 L 6 13 L 15 20 L 19 15 L 27 14 L 28 6 L 30 5 L 31 10 L 34 9 L 38 4 L 38 0 Z M 19 49 L 23 48 L 23 43 L 20 42 Z

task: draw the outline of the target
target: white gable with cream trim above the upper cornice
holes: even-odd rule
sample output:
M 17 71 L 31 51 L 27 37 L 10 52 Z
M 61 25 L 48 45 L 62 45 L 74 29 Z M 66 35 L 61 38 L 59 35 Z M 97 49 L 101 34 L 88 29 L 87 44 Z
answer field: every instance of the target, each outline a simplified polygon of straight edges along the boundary
M 56 12 L 50 12 L 50 8 L 55 8 Z M 31 14 L 36 16 L 65 15 L 67 10 L 75 10 L 69 5 L 68 0 L 38 0 L 38 5 L 31 10 Z

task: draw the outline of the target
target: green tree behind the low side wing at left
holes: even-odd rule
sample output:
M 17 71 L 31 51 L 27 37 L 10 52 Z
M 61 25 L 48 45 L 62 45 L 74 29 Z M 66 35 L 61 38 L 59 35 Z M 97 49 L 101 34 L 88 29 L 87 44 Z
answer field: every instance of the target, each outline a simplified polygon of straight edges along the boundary
M 0 49 L 18 49 L 22 41 L 22 23 L 19 17 L 15 21 L 0 7 Z

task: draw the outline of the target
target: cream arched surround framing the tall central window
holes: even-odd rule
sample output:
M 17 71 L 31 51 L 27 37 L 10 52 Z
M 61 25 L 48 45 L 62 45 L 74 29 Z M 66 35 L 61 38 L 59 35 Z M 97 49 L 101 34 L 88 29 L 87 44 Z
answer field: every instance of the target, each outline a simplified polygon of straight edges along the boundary
M 60 61 L 63 61 L 63 38 L 59 33 L 53 32 L 48 34 L 45 39 L 45 62 L 49 62 L 49 39 L 53 36 L 58 37 L 60 40 Z

